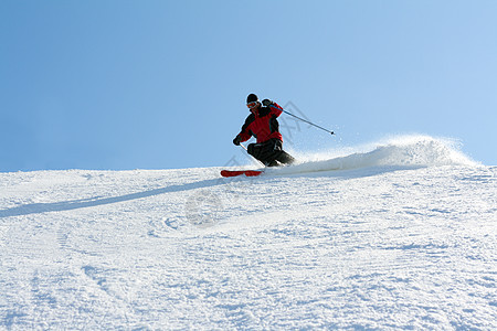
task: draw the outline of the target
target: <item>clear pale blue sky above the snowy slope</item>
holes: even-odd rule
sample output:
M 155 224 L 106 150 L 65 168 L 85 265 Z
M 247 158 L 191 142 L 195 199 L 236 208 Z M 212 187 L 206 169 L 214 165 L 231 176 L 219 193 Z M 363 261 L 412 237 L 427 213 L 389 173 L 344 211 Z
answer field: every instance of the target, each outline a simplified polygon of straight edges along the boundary
M 424 134 L 495 166 L 496 18 L 485 0 L 4 0 L 0 171 L 223 166 L 248 93 L 338 134 L 295 129 L 296 151 Z

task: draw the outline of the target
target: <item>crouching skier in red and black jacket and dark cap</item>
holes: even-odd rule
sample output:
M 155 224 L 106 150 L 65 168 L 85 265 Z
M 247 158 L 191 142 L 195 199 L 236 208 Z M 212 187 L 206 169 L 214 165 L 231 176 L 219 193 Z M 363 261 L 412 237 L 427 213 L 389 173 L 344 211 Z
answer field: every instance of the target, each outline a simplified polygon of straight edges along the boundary
M 247 96 L 246 106 L 252 114 L 245 119 L 245 124 L 233 139 L 233 143 L 239 146 L 254 136 L 257 141 L 250 143 L 247 151 L 255 159 L 266 167 L 293 163 L 295 159 L 283 150 L 283 137 L 276 119 L 282 115 L 283 108 L 269 99 L 264 99 L 261 105 L 255 94 Z

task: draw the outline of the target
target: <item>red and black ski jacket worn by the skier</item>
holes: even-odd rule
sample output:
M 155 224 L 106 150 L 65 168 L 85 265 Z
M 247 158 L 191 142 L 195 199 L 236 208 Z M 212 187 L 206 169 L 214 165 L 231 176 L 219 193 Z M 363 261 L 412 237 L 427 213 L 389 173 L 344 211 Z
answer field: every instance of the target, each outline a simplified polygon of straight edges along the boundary
M 251 139 L 252 136 L 257 139 L 257 143 L 269 139 L 283 141 L 282 134 L 279 134 L 279 124 L 276 119 L 282 115 L 282 110 L 283 108 L 278 104 L 273 103 L 267 107 L 258 108 L 256 114 L 248 115 L 242 126 L 242 131 L 239 134 L 242 142 Z

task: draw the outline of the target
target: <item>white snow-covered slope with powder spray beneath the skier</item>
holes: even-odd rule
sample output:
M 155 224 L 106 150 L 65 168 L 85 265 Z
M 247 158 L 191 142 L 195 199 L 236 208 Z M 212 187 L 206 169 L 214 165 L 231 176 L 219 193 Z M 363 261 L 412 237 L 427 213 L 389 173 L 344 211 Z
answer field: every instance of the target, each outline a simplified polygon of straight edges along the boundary
M 0 173 L 0 329 L 497 330 L 497 167 L 422 136 L 306 158 Z

